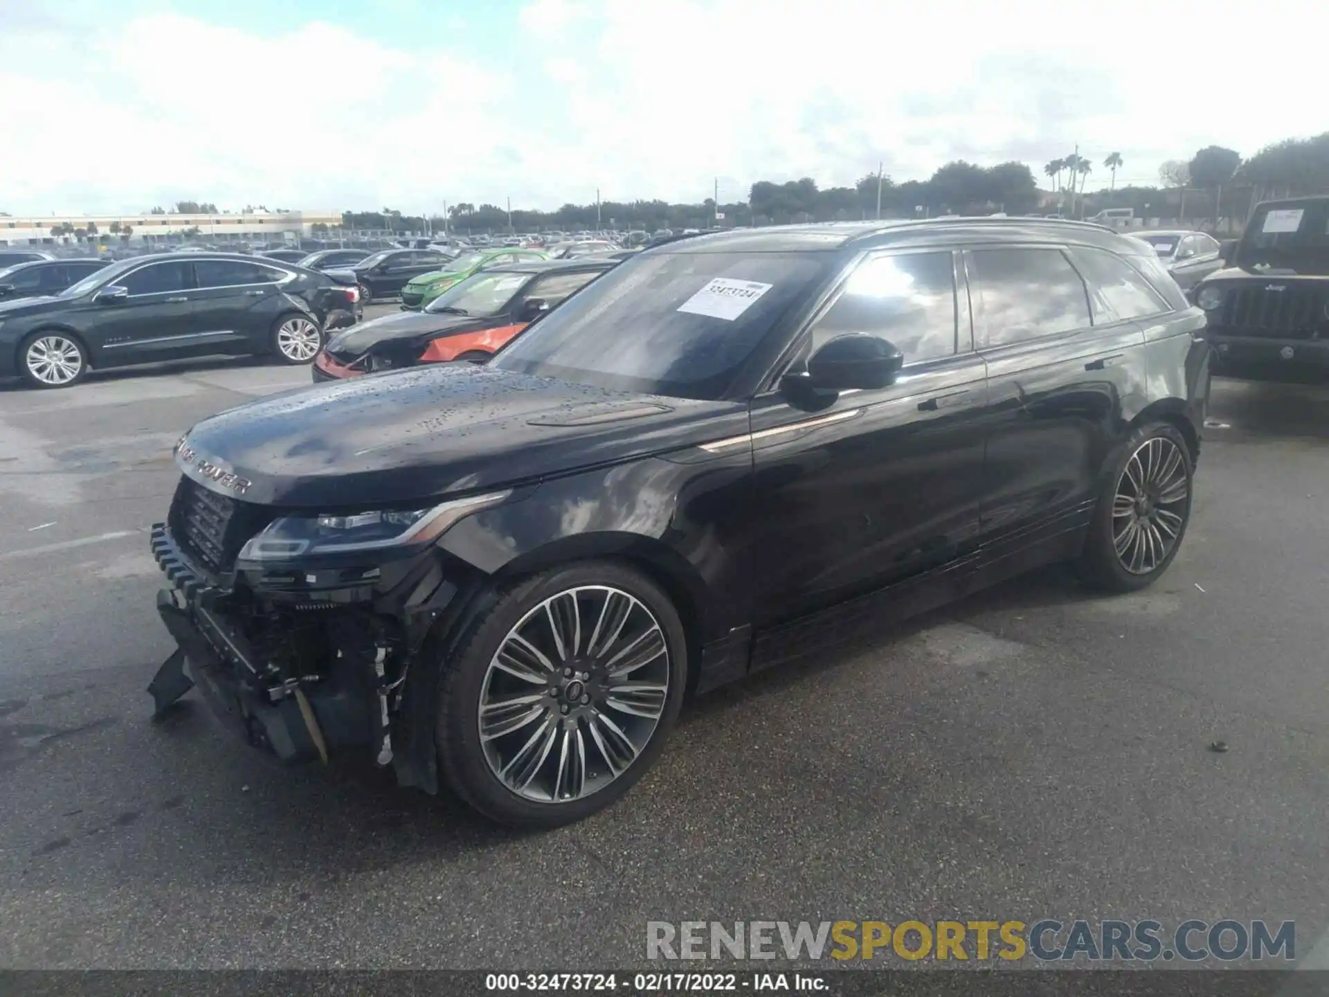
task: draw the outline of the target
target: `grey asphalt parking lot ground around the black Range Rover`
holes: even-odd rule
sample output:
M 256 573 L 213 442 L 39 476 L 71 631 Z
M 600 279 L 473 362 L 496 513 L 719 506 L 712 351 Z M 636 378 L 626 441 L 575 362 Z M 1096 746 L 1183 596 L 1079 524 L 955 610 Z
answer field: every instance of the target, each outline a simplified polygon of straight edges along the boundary
M 1305 958 L 1329 925 L 1329 387 L 1215 382 L 1156 588 L 1046 570 L 704 697 L 618 806 L 520 835 L 272 768 L 197 694 L 149 719 L 170 448 L 308 379 L 0 386 L 0 965 L 587 969 L 649 920 L 1043 916 L 1296 920 Z

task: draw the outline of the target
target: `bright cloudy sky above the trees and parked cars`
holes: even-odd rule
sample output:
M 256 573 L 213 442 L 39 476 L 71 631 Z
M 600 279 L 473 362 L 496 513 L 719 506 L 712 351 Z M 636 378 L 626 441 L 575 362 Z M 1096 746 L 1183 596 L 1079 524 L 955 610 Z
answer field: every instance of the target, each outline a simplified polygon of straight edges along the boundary
M 1076 142 L 1148 183 L 1329 129 L 1322 37 L 1275 27 L 1320 3 L 0 0 L 0 210 L 740 201 Z

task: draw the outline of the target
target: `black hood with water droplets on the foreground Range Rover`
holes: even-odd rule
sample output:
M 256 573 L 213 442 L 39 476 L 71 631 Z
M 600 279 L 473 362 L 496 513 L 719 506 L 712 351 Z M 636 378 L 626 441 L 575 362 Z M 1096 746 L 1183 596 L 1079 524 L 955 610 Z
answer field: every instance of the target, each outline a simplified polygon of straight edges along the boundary
M 369 508 L 691 447 L 742 408 L 437 364 L 251 401 L 185 440 L 195 461 L 250 481 L 246 501 Z

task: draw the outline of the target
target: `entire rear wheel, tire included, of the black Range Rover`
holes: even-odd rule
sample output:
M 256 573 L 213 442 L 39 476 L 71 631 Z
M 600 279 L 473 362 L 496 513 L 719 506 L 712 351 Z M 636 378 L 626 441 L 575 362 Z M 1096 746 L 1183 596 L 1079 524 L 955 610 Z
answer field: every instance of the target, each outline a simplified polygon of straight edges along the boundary
M 1193 476 L 1191 451 L 1176 427 L 1147 423 L 1136 428 L 1122 445 L 1099 495 L 1076 565 L 1080 577 L 1106 592 L 1136 592 L 1152 585 L 1181 549 L 1191 522 Z M 1138 479 L 1143 489 L 1136 488 Z M 1184 496 L 1155 501 L 1179 495 L 1181 483 Z M 1143 502 L 1131 498 L 1140 491 Z M 1160 549 L 1155 546 L 1159 538 Z M 1122 544 L 1124 552 L 1119 553 Z

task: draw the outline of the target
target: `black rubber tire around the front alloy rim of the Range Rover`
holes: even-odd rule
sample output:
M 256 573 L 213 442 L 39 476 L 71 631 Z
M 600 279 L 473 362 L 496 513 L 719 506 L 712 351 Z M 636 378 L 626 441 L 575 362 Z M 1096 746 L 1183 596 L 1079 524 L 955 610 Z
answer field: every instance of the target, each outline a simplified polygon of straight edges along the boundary
M 581 717 L 560 718 L 554 713 L 553 703 L 561 702 L 557 697 L 571 689 L 575 679 L 560 679 L 558 677 L 566 675 L 566 673 L 561 673 L 557 669 L 548 673 L 552 677 L 552 686 L 562 683 L 560 693 L 549 693 L 549 695 L 556 698 L 552 699 L 548 714 L 538 717 L 538 722 L 530 722 L 525 727 L 514 728 L 512 734 L 488 739 L 489 744 L 498 744 L 502 738 L 525 739 L 528 730 L 538 734 L 546 728 L 548 723 L 554 724 L 554 732 L 548 735 L 549 747 L 544 748 L 541 762 L 537 763 L 537 768 L 542 774 L 541 782 L 548 782 L 544 778 L 544 774 L 548 771 L 542 768 L 544 766 L 549 764 L 554 770 L 549 771 L 548 775 L 548 778 L 556 779 L 550 799 L 541 802 L 518 795 L 518 790 L 500 780 L 494 770 L 496 763 L 490 760 L 490 755 L 486 755 L 486 742 L 482 742 L 480 736 L 480 710 L 484 702 L 482 697 L 489 694 L 490 662 L 496 659 L 500 647 L 504 646 L 514 629 L 524 626 L 526 619 L 541 619 L 541 617 L 536 615 L 536 610 L 540 610 L 546 600 L 556 597 L 566 600 L 570 592 L 593 593 L 601 588 L 630 596 L 633 600 L 637 600 L 639 606 L 649 610 L 650 617 L 654 617 L 666 654 L 663 663 L 659 662 L 659 655 L 657 654 L 650 665 L 653 669 L 663 669 L 664 674 L 667 674 L 667 687 L 663 691 L 661 714 L 654 727 L 645 735 L 645 743 L 639 747 L 638 752 L 615 774 L 615 767 L 609 760 L 609 754 L 613 752 L 602 752 L 598 747 L 601 743 L 598 735 L 590 730 L 595 723 L 602 724 L 603 717 L 613 707 L 609 707 L 603 702 L 591 701 L 590 706 L 581 710 Z M 573 596 L 573 598 L 575 600 L 578 596 Z M 630 608 L 627 611 L 635 613 L 637 610 Z M 549 618 L 550 621 L 553 619 L 552 615 Z M 582 634 L 583 631 L 578 629 L 577 633 Z M 589 651 L 594 651 L 591 645 L 595 642 L 598 633 L 599 627 L 597 626 L 587 637 L 586 646 Z M 626 634 L 627 627 L 623 627 L 622 633 Z M 646 633 L 650 633 L 650 627 L 646 627 Z M 610 655 L 610 651 L 615 647 L 619 647 L 619 643 L 614 639 L 602 647 L 601 661 L 611 665 L 617 655 Z M 534 661 L 534 658 L 530 661 Z M 593 673 L 599 666 L 593 667 L 587 665 L 586 667 L 587 673 Z M 641 673 L 647 670 L 646 666 L 638 667 Z M 501 592 L 492 609 L 472 623 L 470 631 L 459 643 L 456 653 L 451 654 L 449 659 L 443 663 L 443 669 L 435 743 L 439 751 L 439 768 L 447 784 L 472 807 L 501 824 L 525 828 L 550 828 L 582 820 L 610 806 L 626 794 L 659 756 L 683 702 L 683 687 L 687 678 L 687 641 L 683 633 L 683 623 L 672 602 L 650 578 L 626 565 L 613 561 L 581 561 L 542 572 Z M 494 674 L 497 675 L 497 673 Z M 601 669 L 599 674 L 603 674 L 603 669 Z M 585 682 L 585 689 L 593 690 L 593 683 L 597 681 L 602 679 L 597 679 L 593 675 Z M 625 679 L 619 677 L 617 681 Z M 529 689 L 529 686 L 520 687 L 521 691 Z M 534 689 L 537 693 L 533 694 L 537 695 L 538 703 L 545 703 L 544 695 L 548 690 L 538 685 Z M 601 690 L 603 690 L 603 686 L 601 686 Z M 522 706 L 521 709 L 525 710 L 526 707 Z M 566 709 L 562 709 L 563 714 L 567 713 Z M 594 714 L 599 719 L 593 720 L 587 714 Z M 613 717 L 622 720 L 622 714 L 617 711 L 613 713 Z M 562 732 L 565 730 L 567 731 L 566 734 Z M 597 730 L 602 731 L 605 728 L 601 726 Z M 585 736 L 583 731 L 586 731 Z M 586 791 L 585 795 L 579 795 L 577 799 L 553 802 L 553 796 L 558 795 L 557 787 L 562 786 L 562 766 L 556 764 L 557 752 L 552 750 L 552 746 L 560 738 L 563 739 L 562 743 L 567 743 L 574 736 L 586 748 L 586 754 L 582 755 L 582 763 L 579 764 L 581 778 L 589 783 L 590 779 L 607 775 L 607 782 L 599 788 Z M 497 754 L 497 748 L 489 750 Z M 517 754 L 521 754 L 521 751 L 517 751 Z M 605 772 L 597 772 L 595 766 L 603 768 Z

